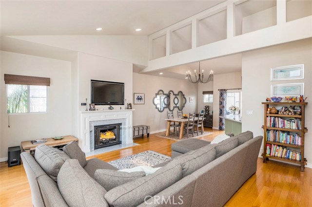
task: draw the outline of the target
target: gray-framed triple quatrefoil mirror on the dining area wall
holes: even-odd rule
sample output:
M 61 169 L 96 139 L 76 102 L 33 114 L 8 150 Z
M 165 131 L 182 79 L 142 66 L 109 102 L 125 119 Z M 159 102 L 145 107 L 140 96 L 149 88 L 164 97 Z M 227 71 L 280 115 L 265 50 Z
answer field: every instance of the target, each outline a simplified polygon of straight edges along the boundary
M 158 112 L 163 112 L 165 109 L 172 112 L 175 108 L 182 111 L 186 104 L 186 98 L 181 91 L 175 94 L 174 91 L 170 90 L 165 94 L 163 90 L 159 90 L 155 94 L 153 104 L 156 106 Z

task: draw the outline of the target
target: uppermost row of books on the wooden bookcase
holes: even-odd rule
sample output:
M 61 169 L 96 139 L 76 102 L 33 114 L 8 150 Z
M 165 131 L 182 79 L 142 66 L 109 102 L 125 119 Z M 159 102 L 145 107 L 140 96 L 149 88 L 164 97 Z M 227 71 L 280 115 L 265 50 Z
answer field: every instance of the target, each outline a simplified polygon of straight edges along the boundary
M 301 130 L 301 119 L 291 117 L 287 120 L 280 117 L 268 116 L 267 127 Z

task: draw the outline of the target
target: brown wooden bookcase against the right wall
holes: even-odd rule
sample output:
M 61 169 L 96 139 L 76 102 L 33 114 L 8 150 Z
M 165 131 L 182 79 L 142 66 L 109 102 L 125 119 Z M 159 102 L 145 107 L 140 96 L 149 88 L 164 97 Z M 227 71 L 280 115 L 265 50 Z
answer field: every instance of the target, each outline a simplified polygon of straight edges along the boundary
M 263 162 L 267 163 L 267 161 L 272 158 L 273 160 L 281 160 L 284 162 L 290 162 L 293 164 L 299 164 L 300 165 L 300 171 L 304 171 L 305 165 L 307 165 L 307 159 L 304 158 L 304 137 L 305 133 L 308 132 L 308 129 L 305 128 L 305 106 L 308 104 L 307 102 L 262 102 L 264 105 L 264 125 L 262 126 L 264 130 L 264 136 L 263 136 Z M 284 114 L 271 114 L 267 113 L 268 108 L 270 105 L 273 105 L 274 107 L 290 107 L 290 106 L 300 106 L 301 107 L 301 115 L 284 115 Z M 297 118 L 301 120 L 301 129 L 287 129 L 287 128 L 277 128 L 277 127 L 268 127 L 267 125 L 267 117 L 278 117 L 282 119 L 289 119 L 289 118 Z M 296 145 L 296 144 L 287 144 L 287 143 L 281 143 L 281 142 L 274 142 L 274 141 L 267 141 L 267 131 L 275 130 L 277 131 L 277 136 L 279 138 L 280 132 L 295 132 L 298 133 L 298 135 L 301 136 L 301 145 Z M 267 155 L 267 144 L 277 145 L 277 146 L 283 146 L 287 149 L 295 149 L 295 151 L 298 151 L 301 153 L 301 160 L 294 160 L 294 159 L 288 159 L 288 158 L 283 158 L 279 156 L 269 156 Z M 272 150 L 272 149 L 271 149 Z

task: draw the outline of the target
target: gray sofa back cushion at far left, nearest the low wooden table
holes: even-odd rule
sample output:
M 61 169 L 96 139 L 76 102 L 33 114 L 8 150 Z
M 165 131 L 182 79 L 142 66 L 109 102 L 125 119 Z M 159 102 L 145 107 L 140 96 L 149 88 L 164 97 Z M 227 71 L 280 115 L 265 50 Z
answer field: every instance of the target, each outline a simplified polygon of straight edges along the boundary
M 53 147 L 39 145 L 36 147 L 35 159 L 45 173 L 57 181 L 59 169 L 70 157 L 65 152 Z

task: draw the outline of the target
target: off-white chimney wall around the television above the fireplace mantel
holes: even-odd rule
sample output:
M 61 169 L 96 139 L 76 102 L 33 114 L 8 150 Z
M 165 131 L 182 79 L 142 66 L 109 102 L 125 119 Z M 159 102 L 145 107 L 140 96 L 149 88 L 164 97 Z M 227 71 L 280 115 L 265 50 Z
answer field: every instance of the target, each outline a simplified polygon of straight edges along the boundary
M 88 103 L 90 103 L 91 79 L 125 83 L 125 99 L 127 99 L 127 102 L 133 99 L 132 63 L 84 53 L 79 53 L 78 61 L 79 111 L 85 111 L 85 106 L 80 106 L 80 103 L 85 102 L 86 98 L 88 98 Z M 113 107 L 119 109 L 120 106 L 116 105 Z M 101 108 L 107 109 L 108 106 L 96 106 L 96 109 Z

